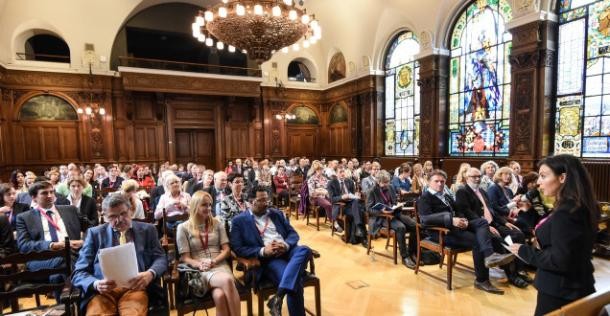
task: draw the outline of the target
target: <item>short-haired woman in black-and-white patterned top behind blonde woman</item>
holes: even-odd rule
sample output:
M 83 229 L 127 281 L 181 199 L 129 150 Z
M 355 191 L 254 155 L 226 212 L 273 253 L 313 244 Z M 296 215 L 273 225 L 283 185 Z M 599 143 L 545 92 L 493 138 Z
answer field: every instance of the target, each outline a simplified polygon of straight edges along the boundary
M 227 223 L 230 229 L 233 217 L 249 210 L 251 205 L 248 202 L 248 194 L 244 192 L 244 176 L 239 173 L 232 173 L 229 175 L 228 181 L 232 193 L 225 196 L 221 201 L 220 213 L 216 216 L 223 225 Z

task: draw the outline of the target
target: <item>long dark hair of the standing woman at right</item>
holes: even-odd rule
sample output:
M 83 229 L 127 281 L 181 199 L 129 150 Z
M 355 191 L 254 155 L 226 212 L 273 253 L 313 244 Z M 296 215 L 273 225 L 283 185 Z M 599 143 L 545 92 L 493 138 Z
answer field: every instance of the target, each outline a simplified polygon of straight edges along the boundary
M 571 201 L 575 203 L 571 212 L 584 207 L 588 210 L 589 221 L 593 231 L 597 230 L 599 219 L 599 206 L 593 193 L 593 182 L 589 172 L 580 162 L 580 159 L 571 155 L 557 155 L 544 158 L 538 167 L 547 166 L 556 175 L 565 174 L 565 181 L 559 188 L 555 205 Z

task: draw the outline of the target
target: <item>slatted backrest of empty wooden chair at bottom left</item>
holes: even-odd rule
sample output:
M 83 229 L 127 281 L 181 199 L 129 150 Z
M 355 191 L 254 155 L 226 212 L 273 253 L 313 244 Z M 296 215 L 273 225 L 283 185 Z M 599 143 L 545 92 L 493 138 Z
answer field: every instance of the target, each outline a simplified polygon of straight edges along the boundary
M 0 266 L 10 267 L 4 269 L 4 274 L 0 274 L 0 312 L 4 309 L 3 304 L 6 301 L 20 297 L 29 297 L 33 294 L 47 294 L 61 291 L 65 287 L 65 283 L 49 283 L 48 281 L 49 277 L 54 274 L 66 276 L 72 274 L 71 248 L 68 237 L 66 237 L 65 242 L 67 246 L 62 250 L 14 253 L 0 259 Z M 32 261 L 54 258 L 63 258 L 65 264 L 56 268 L 36 271 L 22 271 L 20 269 L 21 266 Z M 13 312 L 17 312 L 17 310 L 13 310 Z

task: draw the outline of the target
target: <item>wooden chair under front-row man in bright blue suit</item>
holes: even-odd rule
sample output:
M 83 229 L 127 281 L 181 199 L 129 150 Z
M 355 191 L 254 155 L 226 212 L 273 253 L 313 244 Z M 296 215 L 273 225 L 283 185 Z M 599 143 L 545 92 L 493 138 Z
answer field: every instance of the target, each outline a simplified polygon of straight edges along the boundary
M 311 257 L 309 258 L 309 269 L 305 270 L 303 278 L 303 288 L 313 287 L 316 302 L 316 316 L 322 315 L 322 298 L 320 293 L 320 279 L 316 276 L 316 266 L 314 259 L 319 258 L 320 253 L 311 249 Z M 263 278 L 260 282 L 256 282 L 253 277 L 255 270 L 260 267 L 260 261 L 257 258 L 237 258 L 238 266 L 244 270 L 244 283 L 256 293 L 258 298 L 258 315 L 266 315 L 265 301 L 277 292 L 277 287 L 269 280 Z M 305 311 L 313 315 L 313 313 L 305 307 Z

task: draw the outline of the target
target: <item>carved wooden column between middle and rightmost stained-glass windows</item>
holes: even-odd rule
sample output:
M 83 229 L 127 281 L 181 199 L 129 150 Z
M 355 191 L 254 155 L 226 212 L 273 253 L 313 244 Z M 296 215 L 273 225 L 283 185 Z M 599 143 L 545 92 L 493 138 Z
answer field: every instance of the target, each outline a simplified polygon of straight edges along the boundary
M 555 29 L 555 22 L 534 21 L 510 30 L 513 46 L 509 153 L 524 170 L 535 169 L 536 162 L 553 150 Z

